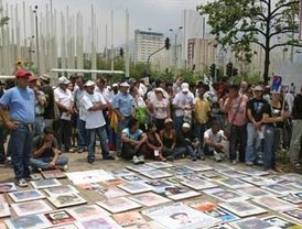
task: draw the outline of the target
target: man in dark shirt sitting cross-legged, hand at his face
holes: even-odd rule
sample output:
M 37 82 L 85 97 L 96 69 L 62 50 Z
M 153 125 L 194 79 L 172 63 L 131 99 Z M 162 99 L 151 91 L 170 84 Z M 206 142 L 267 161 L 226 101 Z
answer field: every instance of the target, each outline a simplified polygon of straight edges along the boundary
M 57 140 L 54 138 L 54 132 L 51 128 L 46 127 L 42 135 L 33 139 L 32 157 L 30 165 L 33 170 L 67 170 L 68 159 L 60 156 Z

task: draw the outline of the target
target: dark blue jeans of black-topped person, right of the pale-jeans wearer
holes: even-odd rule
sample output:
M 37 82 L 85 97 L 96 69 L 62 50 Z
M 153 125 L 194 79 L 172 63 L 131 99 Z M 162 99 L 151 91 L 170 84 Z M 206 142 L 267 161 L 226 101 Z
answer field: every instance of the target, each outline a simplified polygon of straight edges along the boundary
M 265 155 L 263 166 L 266 170 L 276 167 L 276 151 L 280 144 L 280 134 L 277 128 L 265 126 Z

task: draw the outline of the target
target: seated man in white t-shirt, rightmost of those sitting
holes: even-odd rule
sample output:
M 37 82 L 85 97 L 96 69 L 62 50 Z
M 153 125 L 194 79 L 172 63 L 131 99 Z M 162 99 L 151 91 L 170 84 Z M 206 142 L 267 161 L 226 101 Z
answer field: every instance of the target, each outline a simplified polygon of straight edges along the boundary
M 205 154 L 213 154 L 217 162 L 220 162 L 223 159 L 228 156 L 226 155 L 228 141 L 224 134 L 224 131 L 220 130 L 218 121 L 213 121 L 211 128 L 205 131 L 204 142 Z

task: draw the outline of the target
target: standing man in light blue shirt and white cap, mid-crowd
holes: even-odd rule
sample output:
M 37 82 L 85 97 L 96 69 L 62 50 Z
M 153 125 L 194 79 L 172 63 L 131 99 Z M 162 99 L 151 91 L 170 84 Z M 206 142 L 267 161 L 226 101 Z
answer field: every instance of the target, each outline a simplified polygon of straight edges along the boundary
M 112 109 L 118 115 L 117 152 L 121 150 L 121 131 L 128 127 L 134 112 L 134 99 L 128 92 L 130 85 L 127 81 L 119 84 L 119 94 L 112 99 Z

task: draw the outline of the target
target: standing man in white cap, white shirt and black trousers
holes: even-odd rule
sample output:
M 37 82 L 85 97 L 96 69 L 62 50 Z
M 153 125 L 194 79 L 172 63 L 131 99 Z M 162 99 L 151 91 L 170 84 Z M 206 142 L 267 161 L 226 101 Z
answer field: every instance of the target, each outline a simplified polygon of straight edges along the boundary
M 74 98 L 67 88 L 71 81 L 62 76 L 58 78 L 58 87 L 54 89 L 54 100 L 60 110 L 60 146 L 64 143 L 65 151 L 72 152 L 72 115 L 74 113 Z

